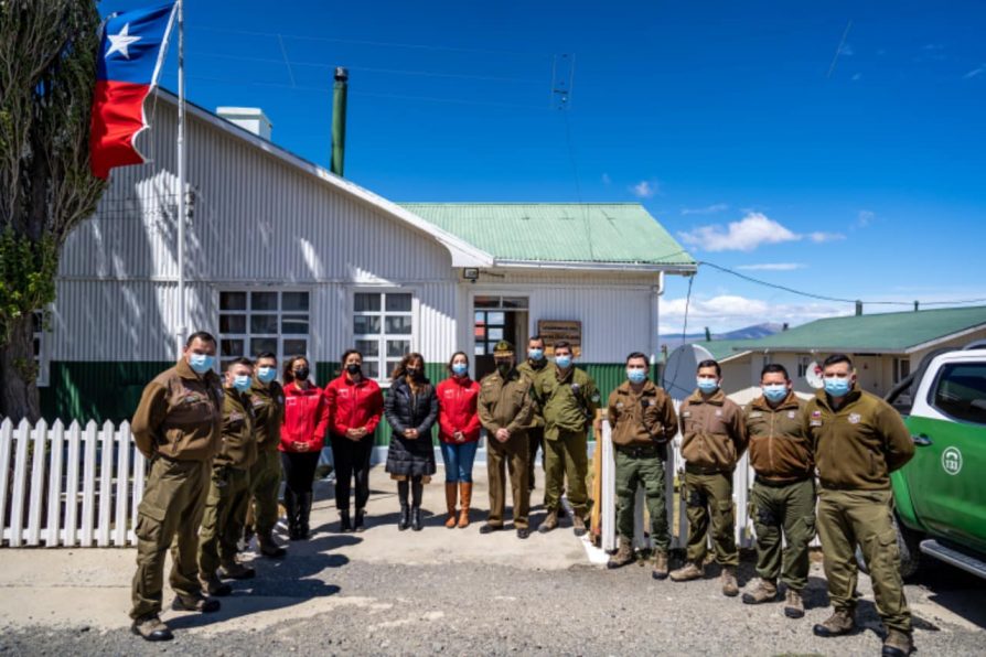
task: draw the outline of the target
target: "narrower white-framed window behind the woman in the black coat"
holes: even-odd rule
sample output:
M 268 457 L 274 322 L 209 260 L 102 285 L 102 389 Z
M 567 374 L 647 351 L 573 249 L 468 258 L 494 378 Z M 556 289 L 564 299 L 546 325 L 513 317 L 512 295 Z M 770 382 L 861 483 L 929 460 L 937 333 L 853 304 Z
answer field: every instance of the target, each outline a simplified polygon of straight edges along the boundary
M 363 354 L 363 374 L 387 379 L 411 351 L 414 295 L 409 292 L 356 292 L 353 341 Z

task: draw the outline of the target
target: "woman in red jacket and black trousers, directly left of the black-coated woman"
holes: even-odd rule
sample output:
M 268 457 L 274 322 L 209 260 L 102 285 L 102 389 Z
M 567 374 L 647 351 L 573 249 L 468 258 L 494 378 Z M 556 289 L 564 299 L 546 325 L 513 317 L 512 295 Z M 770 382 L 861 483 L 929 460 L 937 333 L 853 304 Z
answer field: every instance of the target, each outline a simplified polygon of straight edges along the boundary
M 342 374 L 325 386 L 331 416 L 329 435 L 335 466 L 335 507 L 339 530 L 363 531 L 369 499 L 369 455 L 373 432 L 381 422 L 384 395 L 373 379 L 363 376 L 363 354 L 349 349 L 340 359 Z M 356 516 L 350 524 L 350 483 L 356 480 Z

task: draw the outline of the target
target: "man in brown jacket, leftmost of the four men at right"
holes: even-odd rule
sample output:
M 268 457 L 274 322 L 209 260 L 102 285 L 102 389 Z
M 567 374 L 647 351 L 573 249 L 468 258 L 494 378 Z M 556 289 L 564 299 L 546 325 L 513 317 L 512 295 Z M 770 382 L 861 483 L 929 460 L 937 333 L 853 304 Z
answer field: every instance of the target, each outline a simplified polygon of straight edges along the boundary
M 607 418 L 612 427 L 617 462 L 617 529 L 620 548 L 607 563 L 620 568 L 633 561 L 633 511 L 636 488 L 644 487 L 654 541 L 654 579 L 667 577 L 667 531 L 664 462 L 667 441 L 678 431 L 671 397 L 647 378 L 647 357 L 633 352 L 626 356 L 626 381 L 610 394 Z

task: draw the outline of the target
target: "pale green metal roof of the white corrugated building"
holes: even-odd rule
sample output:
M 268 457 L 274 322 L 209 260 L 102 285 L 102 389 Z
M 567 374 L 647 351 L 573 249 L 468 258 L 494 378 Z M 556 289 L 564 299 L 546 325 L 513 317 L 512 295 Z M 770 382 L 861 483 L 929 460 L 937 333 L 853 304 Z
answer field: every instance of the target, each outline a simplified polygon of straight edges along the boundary
M 400 203 L 499 260 L 694 267 L 639 203 Z

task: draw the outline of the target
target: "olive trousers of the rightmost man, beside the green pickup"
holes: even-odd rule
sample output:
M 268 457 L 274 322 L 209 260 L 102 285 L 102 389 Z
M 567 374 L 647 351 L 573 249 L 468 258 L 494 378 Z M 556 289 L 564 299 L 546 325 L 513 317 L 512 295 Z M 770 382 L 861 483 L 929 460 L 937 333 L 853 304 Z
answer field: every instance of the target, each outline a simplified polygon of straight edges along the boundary
M 911 632 L 900 577 L 900 549 L 890 517 L 890 491 L 826 491 L 818 496 L 818 537 L 828 597 L 836 610 L 856 608 L 856 546 L 874 583 L 877 612 L 890 629 Z

